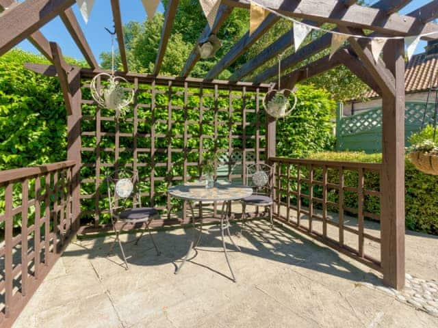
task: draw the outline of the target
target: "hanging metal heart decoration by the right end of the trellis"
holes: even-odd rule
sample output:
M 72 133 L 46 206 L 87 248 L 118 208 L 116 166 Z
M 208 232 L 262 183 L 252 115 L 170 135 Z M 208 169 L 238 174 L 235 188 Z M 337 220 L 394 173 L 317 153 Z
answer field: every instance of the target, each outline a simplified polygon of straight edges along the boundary
M 296 107 L 298 99 L 296 94 L 289 89 L 281 89 L 281 55 L 279 56 L 279 82 L 278 90 L 272 89 L 263 97 L 263 108 L 273 118 L 285 118 Z M 290 105 L 289 97 L 294 97 L 294 105 Z

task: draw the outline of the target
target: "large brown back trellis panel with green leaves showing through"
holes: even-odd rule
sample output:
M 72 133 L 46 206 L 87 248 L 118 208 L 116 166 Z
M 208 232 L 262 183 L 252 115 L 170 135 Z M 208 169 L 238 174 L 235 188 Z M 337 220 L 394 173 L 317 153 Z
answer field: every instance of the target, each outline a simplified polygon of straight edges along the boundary
M 181 202 L 170 199 L 172 184 L 196 180 L 207 152 L 242 167 L 265 157 L 266 117 L 259 107 L 262 90 L 209 84 L 192 88 L 134 82 L 132 111 L 119 120 L 115 112 L 92 101 L 83 84 L 81 120 L 81 213 L 94 224 L 107 215 L 104 177 L 116 167 L 133 167 L 140 176 L 142 203 L 172 213 Z M 248 161 L 250 159 L 250 161 Z M 251 161 L 252 160 L 252 161 Z M 232 162 L 232 163 L 231 163 Z M 228 178 L 244 178 L 229 171 Z

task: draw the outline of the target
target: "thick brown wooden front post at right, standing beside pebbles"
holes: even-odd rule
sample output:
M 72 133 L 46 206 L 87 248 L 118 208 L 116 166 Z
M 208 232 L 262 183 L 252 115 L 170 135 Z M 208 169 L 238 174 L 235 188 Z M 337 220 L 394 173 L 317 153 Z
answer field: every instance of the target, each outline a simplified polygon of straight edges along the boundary
M 394 74 L 395 95 L 383 94 L 381 262 L 385 284 L 404 286 L 404 43 L 388 40 L 383 61 Z

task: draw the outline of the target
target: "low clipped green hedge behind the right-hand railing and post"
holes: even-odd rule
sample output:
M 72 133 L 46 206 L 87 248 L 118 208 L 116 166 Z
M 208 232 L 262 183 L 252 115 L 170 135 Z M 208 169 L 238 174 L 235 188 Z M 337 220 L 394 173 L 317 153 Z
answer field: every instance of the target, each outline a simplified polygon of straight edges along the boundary
M 309 156 L 311 159 L 327 161 L 368 162 L 381 163 L 382 154 L 365 154 L 363 152 L 317 152 Z M 330 180 L 330 176 L 329 176 Z M 357 173 L 347 172 L 345 183 L 348 186 L 357 186 Z M 377 174 L 368 173 L 365 176 L 367 189 L 379 190 Z M 438 176 L 424 174 L 406 159 L 405 169 L 405 209 L 406 226 L 409 230 L 426 232 L 438 235 Z M 329 195 L 333 197 L 333 195 Z M 346 193 L 346 206 L 357 208 L 357 196 Z M 383 195 L 385 197 L 385 195 Z M 333 201 L 333 200 L 332 200 Z M 380 204 L 372 197 L 365 199 L 365 210 L 378 213 Z

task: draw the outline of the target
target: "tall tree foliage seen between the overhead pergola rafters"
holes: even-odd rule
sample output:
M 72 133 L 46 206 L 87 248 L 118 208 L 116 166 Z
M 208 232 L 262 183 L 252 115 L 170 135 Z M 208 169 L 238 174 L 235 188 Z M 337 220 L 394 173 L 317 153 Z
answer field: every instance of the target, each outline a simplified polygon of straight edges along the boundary
M 164 5 L 166 7 L 167 1 L 164 1 Z M 125 25 L 125 44 L 127 48 L 127 59 L 131 70 L 147 73 L 153 72 L 163 23 L 163 14 L 157 13 L 151 21 L 146 20 L 142 23 L 129 22 Z M 205 19 L 198 0 L 179 1 L 175 23 L 172 28 L 160 74 L 179 75 L 206 24 L 207 20 Z M 216 53 L 213 59 L 198 61 L 191 75 L 193 77 L 205 77 L 205 74 L 231 49 L 233 44 L 248 31 L 248 25 L 248 10 L 235 8 L 218 32 L 218 38 L 220 38 L 222 42 L 222 48 Z M 324 27 L 331 27 L 331 25 L 324 25 Z M 270 46 L 272 42 L 289 29 L 292 29 L 292 22 L 281 18 L 255 42 L 246 53 L 238 57 L 231 66 L 225 69 L 219 78 L 229 78 L 235 70 L 258 55 L 263 49 Z M 321 31 L 313 31 L 307 40 L 305 40 L 304 44 L 319 38 L 323 33 L 324 32 Z M 289 49 L 286 49 L 285 53 L 283 53 L 283 57 L 294 51 L 294 46 L 289 47 Z M 313 55 L 305 61 L 302 61 L 298 66 L 289 68 L 285 73 L 308 64 L 328 53 L 329 50 L 327 49 L 326 51 Z M 110 53 L 102 53 L 101 59 L 103 67 L 111 67 Z M 270 59 L 266 64 L 254 70 L 254 72 L 245 79 L 250 80 L 260 72 L 263 72 L 263 70 L 266 70 L 272 65 L 276 65 L 277 60 L 277 57 Z M 116 64 L 118 68 L 121 68 L 119 57 L 116 60 Z M 274 77 L 274 80 L 276 80 L 276 77 Z M 318 77 L 313 77 L 309 79 L 309 81 L 305 81 L 305 84 L 312 84 L 327 90 L 337 101 L 355 98 L 363 94 L 367 89 L 367 86 L 344 66 L 339 66 Z

